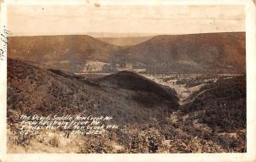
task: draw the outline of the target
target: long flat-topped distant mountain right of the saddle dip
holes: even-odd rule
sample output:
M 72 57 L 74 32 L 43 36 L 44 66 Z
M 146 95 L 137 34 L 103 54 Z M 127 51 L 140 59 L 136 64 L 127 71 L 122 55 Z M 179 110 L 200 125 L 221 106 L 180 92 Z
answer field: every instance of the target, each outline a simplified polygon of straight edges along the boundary
M 125 50 L 125 60 L 151 73 L 245 72 L 245 33 L 154 36 Z

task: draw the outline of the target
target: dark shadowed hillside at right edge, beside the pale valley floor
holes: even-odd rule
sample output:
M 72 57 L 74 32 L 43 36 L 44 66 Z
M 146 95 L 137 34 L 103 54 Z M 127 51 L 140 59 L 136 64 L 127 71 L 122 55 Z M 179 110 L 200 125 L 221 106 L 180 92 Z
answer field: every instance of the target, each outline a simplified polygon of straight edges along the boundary
M 195 92 L 183 111 L 222 131 L 246 128 L 246 76 L 220 79 Z

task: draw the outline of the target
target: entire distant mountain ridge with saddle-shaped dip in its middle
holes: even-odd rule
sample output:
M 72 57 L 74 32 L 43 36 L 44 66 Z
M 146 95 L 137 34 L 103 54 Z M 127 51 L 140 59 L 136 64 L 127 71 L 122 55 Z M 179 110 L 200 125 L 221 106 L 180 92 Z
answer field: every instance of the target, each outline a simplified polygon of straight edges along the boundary
M 111 40 L 102 42 L 91 36 L 12 36 L 8 50 L 10 58 L 77 73 L 84 70 L 87 60 L 105 64 L 105 72 L 126 68 L 146 69 L 150 74 L 240 74 L 246 68 L 246 39 L 242 32 L 154 36 L 129 47 L 107 42 Z

